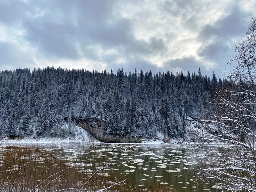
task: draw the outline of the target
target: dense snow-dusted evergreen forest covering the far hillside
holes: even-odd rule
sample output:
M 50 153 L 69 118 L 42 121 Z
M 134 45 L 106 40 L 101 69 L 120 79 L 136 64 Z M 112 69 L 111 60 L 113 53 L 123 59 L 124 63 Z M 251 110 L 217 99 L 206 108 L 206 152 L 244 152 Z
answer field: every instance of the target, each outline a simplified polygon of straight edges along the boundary
M 187 116 L 202 118 L 216 87 L 230 83 L 198 73 L 184 75 L 123 69 L 16 69 L 0 72 L 0 134 L 65 136 L 64 117 L 99 117 L 110 134 L 183 137 Z

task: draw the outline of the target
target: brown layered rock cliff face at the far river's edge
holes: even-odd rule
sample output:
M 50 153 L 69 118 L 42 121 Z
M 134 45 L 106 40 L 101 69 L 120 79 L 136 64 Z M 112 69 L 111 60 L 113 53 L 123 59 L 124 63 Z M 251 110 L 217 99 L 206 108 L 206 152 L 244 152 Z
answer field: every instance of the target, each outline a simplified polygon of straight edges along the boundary
M 92 136 L 105 143 L 141 143 L 140 138 L 132 136 L 112 135 L 107 133 L 105 120 L 100 118 L 74 117 L 79 127 L 84 128 Z

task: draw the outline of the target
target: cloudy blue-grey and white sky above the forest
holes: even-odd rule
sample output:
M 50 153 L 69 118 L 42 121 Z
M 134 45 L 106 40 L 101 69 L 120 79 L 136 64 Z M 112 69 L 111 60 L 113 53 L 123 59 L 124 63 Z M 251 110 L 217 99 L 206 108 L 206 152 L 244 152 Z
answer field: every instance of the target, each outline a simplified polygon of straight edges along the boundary
M 255 0 L 0 0 L 0 70 L 222 76 L 255 14 Z

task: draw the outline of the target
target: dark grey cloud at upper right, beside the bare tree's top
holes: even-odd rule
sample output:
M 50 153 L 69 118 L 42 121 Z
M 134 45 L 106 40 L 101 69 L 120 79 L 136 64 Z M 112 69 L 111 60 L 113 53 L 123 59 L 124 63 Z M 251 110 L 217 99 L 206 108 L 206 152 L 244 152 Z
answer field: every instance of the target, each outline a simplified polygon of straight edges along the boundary
M 248 14 L 241 11 L 237 5 L 233 5 L 230 11 L 226 17 L 212 25 L 204 26 L 199 33 L 203 46 L 198 50 L 198 55 L 216 63 L 215 68 L 226 65 L 229 55 L 234 52 L 234 47 L 230 46 L 234 45 L 233 39 L 244 36 L 246 32 L 248 23 L 245 22 L 245 18 Z

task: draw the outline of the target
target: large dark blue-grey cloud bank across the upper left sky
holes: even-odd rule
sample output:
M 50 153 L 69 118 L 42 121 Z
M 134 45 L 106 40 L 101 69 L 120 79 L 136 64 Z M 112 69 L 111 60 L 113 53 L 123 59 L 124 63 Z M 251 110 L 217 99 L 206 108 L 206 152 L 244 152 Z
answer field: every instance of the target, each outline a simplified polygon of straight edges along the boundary
M 11 13 L 13 21 L 22 20 L 27 30 L 26 39 L 48 59 L 79 59 L 75 42 L 79 42 L 83 55 L 89 59 L 99 60 L 97 48 L 115 48 L 127 63 L 143 66 L 148 65 L 143 57 L 148 54 L 167 52 L 162 38 L 153 37 L 149 42 L 134 37 L 131 20 L 121 18 L 116 14 L 118 2 L 110 1 L 31 1 L 29 4 L 17 3 L 15 12 L 14 2 L 4 3 L 6 15 Z M 35 14 L 35 9 L 44 10 L 45 14 L 38 18 L 31 18 L 24 14 Z M 76 22 L 72 22 L 70 15 L 77 14 Z M 18 15 L 18 16 L 17 16 Z M 55 18 L 59 18 L 59 22 Z M 10 21 L 6 21 L 7 23 Z M 120 49 L 120 46 L 122 49 Z M 135 58 L 135 59 L 134 59 Z M 105 61 L 112 63 L 116 55 L 105 57 Z M 135 61 L 137 60 L 137 61 Z M 152 65 L 151 67 L 153 67 Z

